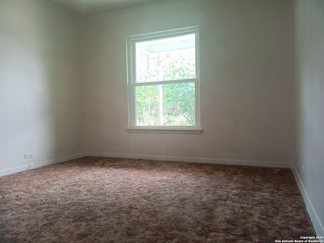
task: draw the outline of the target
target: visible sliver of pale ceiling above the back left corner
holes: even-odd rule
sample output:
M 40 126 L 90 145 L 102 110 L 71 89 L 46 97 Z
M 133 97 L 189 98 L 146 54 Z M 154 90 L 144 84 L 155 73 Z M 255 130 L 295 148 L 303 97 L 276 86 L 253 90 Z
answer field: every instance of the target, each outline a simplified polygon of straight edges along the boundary
M 161 0 L 48 0 L 55 5 L 86 17 Z

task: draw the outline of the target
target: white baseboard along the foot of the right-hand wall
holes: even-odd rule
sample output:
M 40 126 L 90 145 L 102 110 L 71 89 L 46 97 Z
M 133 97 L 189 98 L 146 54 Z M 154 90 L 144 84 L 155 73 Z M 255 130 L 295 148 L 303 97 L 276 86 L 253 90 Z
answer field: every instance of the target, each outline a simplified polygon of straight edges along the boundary
M 296 169 L 296 167 L 295 167 L 294 164 L 293 164 L 292 170 L 293 170 L 295 179 L 297 181 L 297 185 L 299 187 L 299 190 L 300 190 L 300 192 L 301 192 L 301 194 L 303 196 L 304 203 L 305 203 L 305 206 L 306 206 L 306 210 L 307 210 L 307 212 L 309 214 L 310 220 L 313 223 L 315 232 L 316 232 L 317 236 L 324 236 L 323 223 L 320 222 L 320 219 L 318 217 L 318 214 L 316 213 L 316 210 L 315 210 L 315 208 L 314 208 L 314 206 L 312 204 L 311 199 L 308 196 L 308 193 L 306 191 L 306 188 L 304 186 L 304 183 L 301 180 L 301 177 L 299 176 L 298 171 L 297 171 L 297 169 Z

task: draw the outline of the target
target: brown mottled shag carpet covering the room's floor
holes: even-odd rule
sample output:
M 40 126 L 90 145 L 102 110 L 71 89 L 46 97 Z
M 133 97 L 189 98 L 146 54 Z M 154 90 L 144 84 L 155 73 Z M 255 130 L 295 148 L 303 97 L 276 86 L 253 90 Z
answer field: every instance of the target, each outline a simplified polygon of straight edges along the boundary
M 290 169 L 84 157 L 0 178 L 0 242 L 315 235 Z

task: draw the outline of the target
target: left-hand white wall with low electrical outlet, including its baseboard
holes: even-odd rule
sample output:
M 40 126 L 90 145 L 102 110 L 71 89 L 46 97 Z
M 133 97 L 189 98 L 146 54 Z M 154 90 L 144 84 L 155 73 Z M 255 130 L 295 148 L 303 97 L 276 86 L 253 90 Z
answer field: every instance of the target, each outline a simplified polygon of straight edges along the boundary
M 79 17 L 0 0 L 0 175 L 84 154 L 82 68 Z

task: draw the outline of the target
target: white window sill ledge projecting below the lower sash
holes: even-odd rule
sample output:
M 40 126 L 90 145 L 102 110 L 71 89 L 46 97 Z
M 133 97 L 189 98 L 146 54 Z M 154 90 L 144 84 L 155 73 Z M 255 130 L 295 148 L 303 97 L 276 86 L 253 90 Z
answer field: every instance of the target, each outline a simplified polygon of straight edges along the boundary
M 203 129 L 188 128 L 128 128 L 128 133 L 159 133 L 159 134 L 196 134 L 200 135 Z

